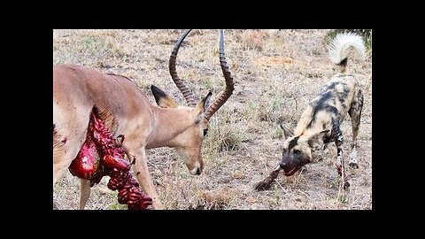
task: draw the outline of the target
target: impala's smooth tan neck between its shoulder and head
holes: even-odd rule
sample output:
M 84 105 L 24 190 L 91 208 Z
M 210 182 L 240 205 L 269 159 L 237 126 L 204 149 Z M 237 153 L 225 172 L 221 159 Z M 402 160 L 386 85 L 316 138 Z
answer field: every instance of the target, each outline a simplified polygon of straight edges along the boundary
M 159 108 L 153 107 L 153 131 L 146 144 L 146 149 L 174 147 L 171 141 L 194 124 L 193 116 L 187 107 Z

